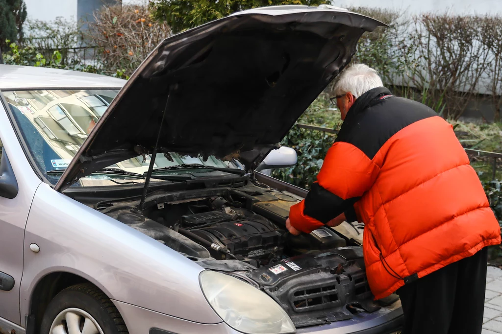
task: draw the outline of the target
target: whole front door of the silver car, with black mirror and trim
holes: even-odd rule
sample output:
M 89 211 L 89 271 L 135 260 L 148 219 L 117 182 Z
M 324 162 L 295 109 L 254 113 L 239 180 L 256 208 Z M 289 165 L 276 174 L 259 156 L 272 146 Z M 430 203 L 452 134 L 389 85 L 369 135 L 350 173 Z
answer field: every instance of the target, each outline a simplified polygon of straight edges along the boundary
M 2 98 L 0 104 L 0 327 L 24 326 L 19 311 L 26 222 L 41 183 L 24 150 Z M 12 110 L 9 110 L 12 112 Z M 24 318 L 24 315 L 23 315 Z

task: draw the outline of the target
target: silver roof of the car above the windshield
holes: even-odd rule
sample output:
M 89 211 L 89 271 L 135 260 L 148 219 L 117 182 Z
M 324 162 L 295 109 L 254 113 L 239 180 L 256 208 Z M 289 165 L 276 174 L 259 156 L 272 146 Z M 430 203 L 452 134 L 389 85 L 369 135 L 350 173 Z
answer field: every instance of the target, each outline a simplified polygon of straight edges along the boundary
M 0 90 L 50 88 L 120 88 L 126 80 L 48 67 L 2 65 Z

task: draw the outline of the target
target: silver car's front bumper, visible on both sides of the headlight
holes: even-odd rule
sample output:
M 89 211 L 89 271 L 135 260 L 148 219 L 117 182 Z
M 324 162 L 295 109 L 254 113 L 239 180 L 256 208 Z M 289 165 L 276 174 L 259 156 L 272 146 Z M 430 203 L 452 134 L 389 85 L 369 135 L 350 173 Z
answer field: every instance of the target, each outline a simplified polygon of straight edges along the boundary
M 143 307 L 112 300 L 122 315 L 131 334 L 241 334 L 224 322 L 198 323 L 180 319 Z M 168 301 L 166 301 L 168 302 Z M 399 301 L 397 302 L 399 303 Z M 355 314 L 352 319 L 317 326 L 299 328 L 298 334 L 391 334 L 403 325 L 400 305 L 383 308 L 373 313 Z

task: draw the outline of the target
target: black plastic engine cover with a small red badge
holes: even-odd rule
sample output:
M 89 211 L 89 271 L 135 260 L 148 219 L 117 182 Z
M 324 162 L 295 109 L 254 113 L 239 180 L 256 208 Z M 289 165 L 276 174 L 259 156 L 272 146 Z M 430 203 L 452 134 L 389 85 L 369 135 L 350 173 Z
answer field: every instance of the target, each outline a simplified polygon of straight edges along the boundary
M 281 233 L 266 222 L 239 220 L 216 223 L 191 230 L 192 233 L 227 248 L 233 255 L 250 259 L 268 258 L 274 247 L 281 245 Z M 214 258 L 225 255 L 214 252 Z

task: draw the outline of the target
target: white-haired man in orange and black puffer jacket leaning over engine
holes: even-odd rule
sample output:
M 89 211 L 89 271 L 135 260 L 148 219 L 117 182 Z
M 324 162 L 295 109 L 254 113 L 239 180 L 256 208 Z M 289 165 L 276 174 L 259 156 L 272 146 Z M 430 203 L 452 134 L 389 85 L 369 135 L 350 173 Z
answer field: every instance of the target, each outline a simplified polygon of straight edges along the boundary
M 404 333 L 480 333 L 486 246 L 500 228 L 452 126 L 366 65 L 334 91 L 343 125 L 288 230 L 364 222 L 369 286 L 375 299 L 397 291 Z

